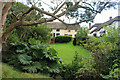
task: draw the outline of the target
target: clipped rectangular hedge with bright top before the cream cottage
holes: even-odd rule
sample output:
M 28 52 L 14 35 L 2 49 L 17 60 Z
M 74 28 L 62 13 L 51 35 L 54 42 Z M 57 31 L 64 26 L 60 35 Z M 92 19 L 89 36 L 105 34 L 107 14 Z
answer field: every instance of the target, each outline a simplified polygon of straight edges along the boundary
M 72 40 L 72 36 L 69 35 L 58 35 L 55 37 L 55 42 L 56 43 L 67 43 Z

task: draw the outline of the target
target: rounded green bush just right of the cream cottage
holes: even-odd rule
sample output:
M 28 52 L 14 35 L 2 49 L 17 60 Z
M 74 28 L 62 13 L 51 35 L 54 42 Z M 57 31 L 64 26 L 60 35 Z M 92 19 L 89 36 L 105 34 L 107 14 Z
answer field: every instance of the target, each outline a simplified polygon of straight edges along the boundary
M 88 29 L 87 27 L 81 27 L 76 34 L 76 43 L 80 44 L 80 41 L 84 41 L 87 39 Z

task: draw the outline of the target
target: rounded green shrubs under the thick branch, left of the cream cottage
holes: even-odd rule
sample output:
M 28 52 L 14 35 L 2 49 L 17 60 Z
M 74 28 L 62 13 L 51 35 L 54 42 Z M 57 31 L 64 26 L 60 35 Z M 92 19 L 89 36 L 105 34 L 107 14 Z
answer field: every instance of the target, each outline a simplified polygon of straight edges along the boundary
M 36 26 L 21 26 L 17 27 L 8 37 L 7 42 L 12 43 L 16 41 L 28 42 L 29 38 L 40 40 L 41 43 L 49 43 L 51 39 L 51 29 L 45 24 Z

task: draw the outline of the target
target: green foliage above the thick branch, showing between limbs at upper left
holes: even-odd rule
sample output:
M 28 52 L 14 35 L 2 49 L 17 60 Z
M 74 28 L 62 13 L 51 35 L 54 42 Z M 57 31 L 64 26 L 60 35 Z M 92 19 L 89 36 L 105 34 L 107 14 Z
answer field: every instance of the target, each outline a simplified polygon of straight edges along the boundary
M 13 6 L 10 8 L 10 14 L 7 16 L 5 27 L 7 28 L 10 24 L 16 22 L 17 21 L 16 17 L 23 17 L 24 20 L 26 21 L 34 21 L 39 20 L 43 16 L 41 14 L 38 15 L 35 10 L 31 11 L 31 14 L 23 16 L 22 14 L 29 10 L 29 8 L 30 8 L 29 6 L 24 5 L 23 3 L 14 2 Z M 14 13 L 14 15 L 12 15 L 12 13 Z

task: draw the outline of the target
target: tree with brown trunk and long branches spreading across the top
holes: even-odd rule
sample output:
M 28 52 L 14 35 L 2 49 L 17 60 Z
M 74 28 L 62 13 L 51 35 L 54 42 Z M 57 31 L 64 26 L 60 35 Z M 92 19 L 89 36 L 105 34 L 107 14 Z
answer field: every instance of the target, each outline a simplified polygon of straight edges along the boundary
M 56 1 L 57 2 L 57 1 Z M 7 37 L 9 34 L 19 26 L 31 26 L 31 25 L 36 25 L 36 24 L 41 24 L 45 22 L 51 22 L 53 20 L 58 19 L 64 24 L 68 24 L 64 22 L 63 20 L 60 19 L 60 17 L 66 15 L 68 18 L 70 17 L 77 17 L 77 22 L 72 23 L 72 24 L 79 24 L 82 22 L 90 21 L 95 18 L 97 13 L 101 13 L 101 11 L 105 8 L 114 6 L 115 4 L 111 2 L 93 2 L 93 3 L 88 3 L 88 2 L 83 2 L 79 0 L 78 2 L 60 2 L 56 7 L 52 8 L 53 13 L 50 13 L 49 11 L 43 10 L 43 8 L 37 7 L 37 2 L 29 2 L 32 6 L 25 12 L 18 13 L 17 15 L 14 14 L 14 12 L 9 11 L 10 8 L 13 6 L 13 2 L 7 2 L 7 3 L 2 3 L 2 27 L 3 29 L 5 28 L 5 23 L 6 23 L 6 17 L 11 12 L 12 15 L 14 15 L 14 18 L 16 18 L 16 21 L 14 23 L 11 23 L 9 27 L 5 30 L 5 32 L 2 34 L 2 42 L 5 43 Z M 52 2 L 54 3 L 54 2 Z M 49 6 L 50 7 L 50 6 Z M 80 13 L 82 9 L 84 12 Z M 29 16 L 32 11 L 36 11 L 37 15 L 45 14 L 50 16 L 50 18 L 40 18 L 39 20 L 33 20 L 29 21 L 25 17 Z M 69 25 L 69 24 L 68 24 Z

